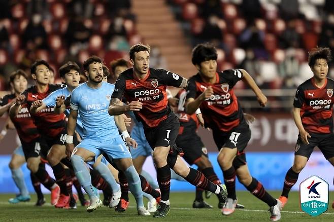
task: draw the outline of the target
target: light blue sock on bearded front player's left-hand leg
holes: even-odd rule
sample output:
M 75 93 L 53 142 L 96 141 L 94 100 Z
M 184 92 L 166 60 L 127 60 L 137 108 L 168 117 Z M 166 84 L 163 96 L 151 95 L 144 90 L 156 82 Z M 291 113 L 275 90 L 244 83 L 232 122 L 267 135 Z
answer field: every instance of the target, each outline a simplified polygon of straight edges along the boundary
M 72 155 L 71 163 L 81 186 L 88 194 L 90 200 L 98 198 L 96 191 L 91 184 L 91 177 L 82 157 Z

